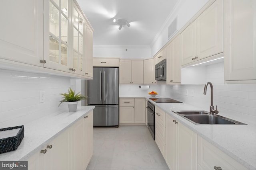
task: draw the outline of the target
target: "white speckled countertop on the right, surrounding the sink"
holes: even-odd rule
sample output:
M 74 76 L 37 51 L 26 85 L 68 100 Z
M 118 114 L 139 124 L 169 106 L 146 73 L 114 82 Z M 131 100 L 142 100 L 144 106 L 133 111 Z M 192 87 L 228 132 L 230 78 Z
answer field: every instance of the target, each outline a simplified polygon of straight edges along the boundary
M 146 98 L 149 99 L 148 96 L 146 96 Z M 164 110 L 177 121 L 181 122 L 249 170 L 256 170 L 255 124 L 244 120 L 238 120 L 248 125 L 194 125 L 172 111 L 204 109 L 186 103 L 156 103 L 152 100 L 150 100 L 150 102 Z

